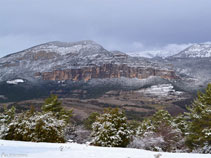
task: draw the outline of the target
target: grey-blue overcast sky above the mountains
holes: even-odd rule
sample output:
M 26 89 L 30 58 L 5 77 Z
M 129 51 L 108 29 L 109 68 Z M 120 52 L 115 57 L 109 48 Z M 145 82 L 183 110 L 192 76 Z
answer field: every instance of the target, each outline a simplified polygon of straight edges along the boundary
M 0 0 L 0 56 L 49 41 L 131 52 L 210 38 L 211 0 Z

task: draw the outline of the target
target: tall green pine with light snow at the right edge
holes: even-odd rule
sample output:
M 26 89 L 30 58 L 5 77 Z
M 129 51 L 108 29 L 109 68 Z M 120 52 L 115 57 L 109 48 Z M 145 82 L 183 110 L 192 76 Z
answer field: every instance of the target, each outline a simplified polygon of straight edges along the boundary
M 204 95 L 205 96 L 205 95 Z M 188 108 L 189 132 L 186 143 L 191 150 L 211 153 L 211 106 L 200 98 Z M 204 98 L 203 100 L 208 98 Z M 210 96 L 211 100 L 211 96 Z

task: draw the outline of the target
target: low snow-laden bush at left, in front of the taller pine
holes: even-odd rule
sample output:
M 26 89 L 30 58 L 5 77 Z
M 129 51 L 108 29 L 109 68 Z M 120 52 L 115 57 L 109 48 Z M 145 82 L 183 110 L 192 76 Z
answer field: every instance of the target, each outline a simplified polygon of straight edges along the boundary
M 65 121 L 57 119 L 52 112 L 22 113 L 8 125 L 6 140 L 33 142 L 65 142 Z

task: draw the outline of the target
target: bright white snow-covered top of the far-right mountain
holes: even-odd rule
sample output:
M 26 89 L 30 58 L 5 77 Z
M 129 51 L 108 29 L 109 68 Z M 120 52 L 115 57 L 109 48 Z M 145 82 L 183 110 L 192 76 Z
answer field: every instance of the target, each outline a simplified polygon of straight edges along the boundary
M 179 54 L 172 56 L 174 58 L 209 58 L 211 57 L 211 44 L 194 44 Z

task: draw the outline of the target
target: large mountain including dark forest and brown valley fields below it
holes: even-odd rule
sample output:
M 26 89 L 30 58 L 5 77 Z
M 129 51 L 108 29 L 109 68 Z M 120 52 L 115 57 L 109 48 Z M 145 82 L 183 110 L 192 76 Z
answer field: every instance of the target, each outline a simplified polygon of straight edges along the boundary
M 39 99 L 53 93 L 81 118 L 110 106 L 131 119 L 160 108 L 176 114 L 199 89 L 179 68 L 170 59 L 132 57 L 94 41 L 49 42 L 0 59 L 0 102 L 21 111 L 40 107 Z

